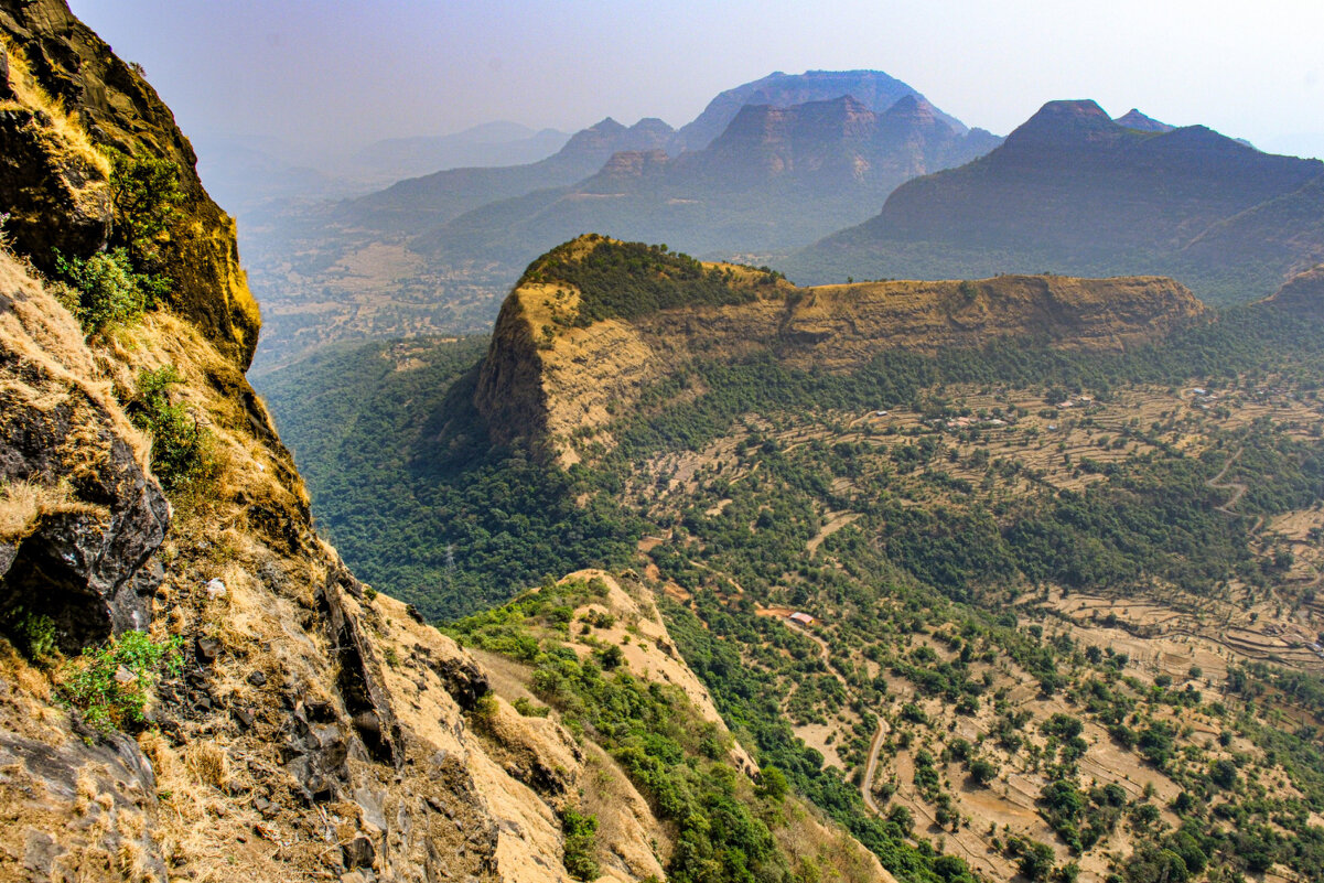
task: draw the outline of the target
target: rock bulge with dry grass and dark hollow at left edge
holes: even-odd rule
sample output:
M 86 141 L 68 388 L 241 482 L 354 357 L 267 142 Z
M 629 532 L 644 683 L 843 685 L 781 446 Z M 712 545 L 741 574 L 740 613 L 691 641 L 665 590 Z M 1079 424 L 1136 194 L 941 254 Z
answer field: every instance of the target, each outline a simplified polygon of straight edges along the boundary
M 140 596 L 155 585 L 142 565 L 169 519 L 140 434 L 98 385 L 73 318 L 0 256 L 0 485 L 11 507 L 0 618 L 49 616 L 68 653 L 147 625 Z

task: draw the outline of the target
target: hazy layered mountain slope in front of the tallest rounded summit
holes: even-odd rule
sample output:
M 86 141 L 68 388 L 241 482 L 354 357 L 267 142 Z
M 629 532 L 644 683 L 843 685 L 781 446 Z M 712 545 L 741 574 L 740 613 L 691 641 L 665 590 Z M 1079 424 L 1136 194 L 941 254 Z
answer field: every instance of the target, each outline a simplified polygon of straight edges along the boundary
M 789 107 L 745 105 L 707 150 L 675 159 L 617 154 L 594 176 L 470 212 L 421 234 L 430 259 L 524 266 L 585 230 L 686 252 L 798 248 L 873 213 L 900 183 L 997 144 L 959 134 L 928 102 L 904 95 L 875 113 L 850 95 Z

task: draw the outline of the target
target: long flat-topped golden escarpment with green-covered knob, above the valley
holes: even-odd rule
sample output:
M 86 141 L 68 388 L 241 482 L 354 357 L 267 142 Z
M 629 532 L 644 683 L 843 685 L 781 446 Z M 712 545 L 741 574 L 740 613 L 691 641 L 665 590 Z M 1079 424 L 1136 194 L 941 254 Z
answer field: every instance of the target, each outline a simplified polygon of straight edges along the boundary
M 496 443 L 526 440 L 569 465 L 587 442 L 612 443 L 612 420 L 692 360 L 768 355 L 842 372 L 887 349 L 932 355 L 1013 338 L 1120 352 L 1205 315 L 1162 277 L 798 289 L 764 270 L 588 236 L 536 261 L 510 294 L 475 404 Z

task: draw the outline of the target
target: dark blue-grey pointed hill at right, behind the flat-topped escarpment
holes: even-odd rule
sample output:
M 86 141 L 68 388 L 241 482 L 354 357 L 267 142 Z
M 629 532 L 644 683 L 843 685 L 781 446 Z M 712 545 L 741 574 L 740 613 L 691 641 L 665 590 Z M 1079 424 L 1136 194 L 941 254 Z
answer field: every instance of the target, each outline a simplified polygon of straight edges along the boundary
M 1251 301 L 1315 262 L 1317 237 L 1294 220 L 1309 216 L 1321 172 L 1201 126 L 1141 130 L 1094 102 L 1050 102 L 986 158 L 910 181 L 782 269 L 806 281 L 1155 273 Z

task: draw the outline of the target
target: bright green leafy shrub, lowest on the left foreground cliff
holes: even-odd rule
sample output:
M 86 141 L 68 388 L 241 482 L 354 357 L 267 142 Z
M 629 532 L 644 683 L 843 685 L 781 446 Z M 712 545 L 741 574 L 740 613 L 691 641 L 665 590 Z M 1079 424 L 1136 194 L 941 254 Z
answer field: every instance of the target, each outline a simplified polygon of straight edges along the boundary
M 126 631 L 71 659 L 61 691 L 102 732 L 135 727 L 144 720 L 147 694 L 160 673 L 183 670 L 181 643 L 179 637 L 152 641 L 143 631 Z

